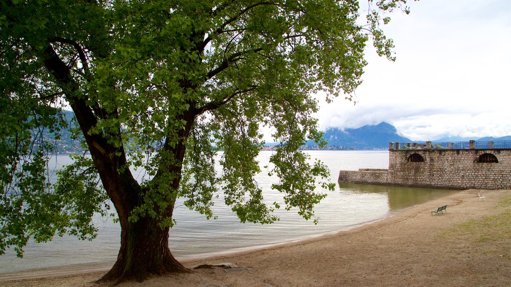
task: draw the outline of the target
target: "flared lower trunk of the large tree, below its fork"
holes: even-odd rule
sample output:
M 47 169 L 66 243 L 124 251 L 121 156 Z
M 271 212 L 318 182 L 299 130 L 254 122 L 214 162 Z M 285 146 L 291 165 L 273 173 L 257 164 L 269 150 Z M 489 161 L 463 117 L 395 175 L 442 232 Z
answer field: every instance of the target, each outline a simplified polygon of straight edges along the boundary
M 98 282 L 135 279 L 169 272 L 190 272 L 171 254 L 169 228 L 161 229 L 153 219 L 141 218 L 122 226 L 121 249 L 112 269 Z

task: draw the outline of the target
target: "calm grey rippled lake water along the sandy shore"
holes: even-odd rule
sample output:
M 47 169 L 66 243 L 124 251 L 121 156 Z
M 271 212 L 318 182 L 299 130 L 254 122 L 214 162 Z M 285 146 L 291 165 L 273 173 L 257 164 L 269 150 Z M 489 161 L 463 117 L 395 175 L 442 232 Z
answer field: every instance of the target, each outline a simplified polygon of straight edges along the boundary
M 337 182 L 339 170 L 359 168 L 388 168 L 387 151 L 311 151 L 312 157 L 325 162 L 331 170 L 331 181 Z M 261 166 L 267 164 L 271 152 L 262 152 Z M 57 156 L 56 164 L 65 164 L 66 156 Z M 138 176 L 142 177 L 140 173 Z M 280 194 L 270 190 L 277 179 L 268 177 L 267 171 L 256 178 L 266 190 L 268 202 L 282 202 Z M 342 184 L 329 192 L 316 207 L 319 224 L 305 221 L 296 211 L 277 210 L 281 220 L 270 225 L 241 224 L 228 207 L 219 202 L 214 212 L 218 220 L 188 210 L 178 202 L 174 211 L 177 225 L 170 231 L 170 248 L 178 259 L 234 252 L 247 248 L 278 244 L 324 233 L 346 230 L 390 216 L 393 212 L 424 203 L 449 193 L 447 190 L 407 188 L 381 185 Z M 182 201 L 181 201 L 182 203 Z M 52 242 L 25 247 L 24 258 L 17 258 L 13 250 L 0 256 L 0 273 L 13 273 L 41 268 L 54 268 L 75 264 L 113 262 L 120 246 L 120 226 L 111 219 L 95 218 L 98 237 L 80 241 L 75 237 L 55 237 Z

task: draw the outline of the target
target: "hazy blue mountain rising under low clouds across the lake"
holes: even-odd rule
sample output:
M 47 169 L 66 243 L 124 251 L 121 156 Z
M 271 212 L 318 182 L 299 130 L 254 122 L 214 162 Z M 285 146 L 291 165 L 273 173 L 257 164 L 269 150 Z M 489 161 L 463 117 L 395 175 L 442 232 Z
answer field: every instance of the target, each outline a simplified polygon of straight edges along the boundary
M 331 128 L 324 132 L 323 138 L 328 146 L 351 147 L 357 150 L 388 149 L 389 142 L 412 142 L 409 138 L 398 134 L 396 128 L 382 122 L 378 125 L 365 125 L 358 129 Z M 314 142 L 308 142 L 313 145 Z

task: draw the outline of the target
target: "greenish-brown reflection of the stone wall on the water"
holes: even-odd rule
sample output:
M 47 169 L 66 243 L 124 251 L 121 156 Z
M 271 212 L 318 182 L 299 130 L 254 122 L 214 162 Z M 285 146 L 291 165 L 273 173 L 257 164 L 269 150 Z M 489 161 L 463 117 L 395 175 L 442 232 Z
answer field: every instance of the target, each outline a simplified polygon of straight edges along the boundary
M 360 183 L 339 183 L 339 190 L 353 194 L 381 194 L 387 197 L 390 211 L 399 211 L 427 201 L 448 196 L 457 190 Z

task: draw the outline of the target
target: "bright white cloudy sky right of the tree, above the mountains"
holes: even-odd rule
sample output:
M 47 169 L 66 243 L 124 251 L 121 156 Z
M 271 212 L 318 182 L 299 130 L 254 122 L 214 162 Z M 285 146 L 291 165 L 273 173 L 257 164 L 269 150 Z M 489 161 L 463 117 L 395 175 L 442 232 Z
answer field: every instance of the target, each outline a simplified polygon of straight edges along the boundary
M 411 140 L 511 135 L 511 0 L 407 6 L 410 14 L 394 11 L 383 28 L 396 62 L 368 44 L 356 104 L 321 100 L 320 129 L 387 122 Z

